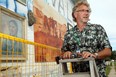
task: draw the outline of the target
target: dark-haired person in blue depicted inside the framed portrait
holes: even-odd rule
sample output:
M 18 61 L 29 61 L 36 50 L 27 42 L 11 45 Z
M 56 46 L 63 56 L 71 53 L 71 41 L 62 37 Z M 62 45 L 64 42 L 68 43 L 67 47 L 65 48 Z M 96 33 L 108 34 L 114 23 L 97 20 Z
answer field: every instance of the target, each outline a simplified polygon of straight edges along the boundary
M 17 37 L 18 24 L 15 20 L 9 21 L 9 35 Z M 13 40 L 3 39 L 2 41 L 3 55 L 21 55 L 22 44 Z

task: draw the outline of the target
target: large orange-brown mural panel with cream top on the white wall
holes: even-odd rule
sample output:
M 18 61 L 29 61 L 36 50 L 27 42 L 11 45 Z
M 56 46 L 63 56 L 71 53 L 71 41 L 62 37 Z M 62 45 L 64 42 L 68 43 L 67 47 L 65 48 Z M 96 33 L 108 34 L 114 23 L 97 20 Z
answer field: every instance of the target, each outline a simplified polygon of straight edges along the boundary
M 41 0 L 34 0 L 34 41 L 47 46 L 61 48 L 64 34 L 67 30 L 65 18 L 56 12 L 53 7 Z M 35 49 L 36 62 L 54 61 L 54 57 L 59 54 L 49 49 Z

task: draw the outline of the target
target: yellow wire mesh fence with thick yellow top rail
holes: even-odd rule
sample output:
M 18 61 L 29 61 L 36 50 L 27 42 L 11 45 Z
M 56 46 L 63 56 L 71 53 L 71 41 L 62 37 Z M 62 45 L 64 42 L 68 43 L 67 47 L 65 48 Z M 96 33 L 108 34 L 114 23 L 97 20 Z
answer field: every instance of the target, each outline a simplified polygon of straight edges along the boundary
M 11 41 L 11 50 L 4 41 L 7 45 Z M 2 33 L 0 45 L 0 77 L 61 77 L 55 62 L 60 49 Z

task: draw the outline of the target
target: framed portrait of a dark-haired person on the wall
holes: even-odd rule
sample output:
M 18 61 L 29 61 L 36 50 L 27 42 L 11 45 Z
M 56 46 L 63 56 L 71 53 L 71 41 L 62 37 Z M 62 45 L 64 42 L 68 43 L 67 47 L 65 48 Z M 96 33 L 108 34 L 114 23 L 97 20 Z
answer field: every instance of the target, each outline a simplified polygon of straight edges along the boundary
M 0 31 L 8 35 L 8 38 L 1 38 L 2 60 L 17 60 L 24 57 L 24 47 L 21 42 L 15 41 L 9 36 L 24 38 L 24 19 L 18 17 L 14 12 L 1 7 Z

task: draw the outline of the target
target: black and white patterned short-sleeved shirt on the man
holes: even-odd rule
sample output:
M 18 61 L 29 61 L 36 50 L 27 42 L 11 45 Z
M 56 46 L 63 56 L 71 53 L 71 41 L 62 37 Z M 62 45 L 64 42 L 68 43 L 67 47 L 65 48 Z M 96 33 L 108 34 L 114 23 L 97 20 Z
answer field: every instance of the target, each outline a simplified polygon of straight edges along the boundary
M 98 24 L 88 23 L 81 32 L 76 26 L 67 30 L 61 50 L 76 52 L 79 49 L 81 52 L 95 53 L 104 48 L 112 48 L 104 28 Z M 105 77 L 105 61 L 97 60 L 96 63 L 100 77 Z

